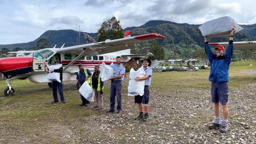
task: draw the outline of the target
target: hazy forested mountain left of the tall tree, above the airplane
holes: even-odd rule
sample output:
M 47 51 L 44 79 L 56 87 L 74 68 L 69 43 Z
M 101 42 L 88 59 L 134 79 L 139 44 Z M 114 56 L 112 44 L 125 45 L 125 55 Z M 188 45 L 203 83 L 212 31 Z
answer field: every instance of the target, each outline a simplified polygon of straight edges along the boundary
M 82 33 L 80 32 L 80 44 L 85 44 L 86 39 L 82 37 Z M 86 33 L 90 35 L 92 38 L 97 38 L 96 33 Z M 43 33 L 39 38 L 33 40 L 28 43 L 18 43 L 18 44 L 0 44 L 0 48 L 8 48 L 12 50 L 13 48 L 19 47 L 22 49 L 33 48 L 36 46 L 38 40 L 41 38 L 45 38 L 48 40 L 50 48 L 54 47 L 56 44 L 57 48 L 60 48 L 64 43 L 65 47 L 70 47 L 77 44 L 78 33 L 75 30 L 67 29 L 67 30 L 47 30 Z

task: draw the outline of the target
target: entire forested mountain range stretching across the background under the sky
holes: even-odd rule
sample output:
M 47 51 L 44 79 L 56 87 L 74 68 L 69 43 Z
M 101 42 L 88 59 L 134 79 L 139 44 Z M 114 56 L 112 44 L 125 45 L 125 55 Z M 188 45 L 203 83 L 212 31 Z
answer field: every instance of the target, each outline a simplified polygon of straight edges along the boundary
M 244 29 L 235 34 L 235 41 L 256 39 L 256 24 L 241 26 Z M 198 27 L 199 24 L 175 23 L 166 20 L 150 20 L 140 27 L 128 27 L 124 30 L 131 30 L 132 35 L 140 35 L 146 33 L 159 33 L 164 35 L 166 37 L 165 39 L 157 40 L 159 44 L 164 48 L 168 48 L 172 44 L 187 46 L 199 45 L 200 47 L 203 47 L 204 37 L 201 35 Z M 96 33 L 87 34 L 92 38 L 97 38 Z M 77 32 L 75 30 L 48 30 L 32 42 L 0 45 L 0 49 L 8 48 L 9 50 L 12 50 L 16 47 L 22 49 L 33 48 L 41 38 L 47 39 L 50 47 L 54 47 L 54 45 L 57 44 L 57 48 L 60 48 L 63 43 L 65 43 L 65 47 L 77 44 Z M 211 38 L 210 42 L 227 42 L 227 39 L 227 37 Z M 80 35 L 80 44 L 85 43 L 85 38 Z

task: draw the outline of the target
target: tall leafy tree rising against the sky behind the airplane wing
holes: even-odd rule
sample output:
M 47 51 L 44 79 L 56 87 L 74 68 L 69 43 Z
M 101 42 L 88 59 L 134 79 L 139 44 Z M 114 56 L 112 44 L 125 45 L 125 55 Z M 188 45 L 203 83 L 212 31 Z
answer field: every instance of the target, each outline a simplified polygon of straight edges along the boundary
M 102 42 L 106 39 L 119 39 L 124 36 L 124 33 L 122 33 L 120 21 L 117 20 L 114 16 L 101 24 L 97 34 L 100 34 L 97 40 L 98 42 Z

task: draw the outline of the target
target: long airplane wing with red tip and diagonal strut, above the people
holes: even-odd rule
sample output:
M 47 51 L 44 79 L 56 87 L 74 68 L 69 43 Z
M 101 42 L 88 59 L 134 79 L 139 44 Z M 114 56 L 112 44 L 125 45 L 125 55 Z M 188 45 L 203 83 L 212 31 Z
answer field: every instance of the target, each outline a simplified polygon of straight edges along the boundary
M 144 35 L 137 35 L 135 37 L 114 39 L 114 40 L 105 40 L 105 42 L 99 43 L 90 43 L 90 44 L 82 44 L 76 45 L 73 47 L 66 47 L 62 49 L 56 49 L 57 53 L 80 53 L 74 60 L 71 61 L 63 70 L 66 70 L 70 65 L 75 63 L 75 61 L 82 56 L 93 56 L 100 55 L 105 53 L 117 52 L 120 50 L 135 48 L 135 42 L 144 42 L 152 39 L 164 38 L 163 35 L 151 33 Z

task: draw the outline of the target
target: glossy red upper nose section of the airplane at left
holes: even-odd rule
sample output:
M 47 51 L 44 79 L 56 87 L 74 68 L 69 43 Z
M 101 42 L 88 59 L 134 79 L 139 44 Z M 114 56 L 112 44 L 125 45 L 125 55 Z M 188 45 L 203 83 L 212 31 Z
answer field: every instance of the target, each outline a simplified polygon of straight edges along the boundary
M 0 72 L 32 66 L 32 57 L 11 57 L 0 59 Z

